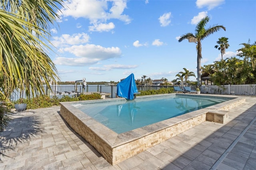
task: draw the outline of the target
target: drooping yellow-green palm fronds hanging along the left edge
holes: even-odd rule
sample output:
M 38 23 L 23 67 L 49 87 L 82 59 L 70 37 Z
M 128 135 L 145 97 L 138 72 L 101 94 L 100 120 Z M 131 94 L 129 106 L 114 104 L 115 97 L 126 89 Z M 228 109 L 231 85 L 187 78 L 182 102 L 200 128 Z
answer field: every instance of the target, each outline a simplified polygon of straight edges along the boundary
M 0 1 L 0 97 L 8 103 L 20 87 L 26 97 L 44 93 L 42 81 L 56 79 L 57 70 L 44 51 L 50 25 L 58 18 L 62 0 Z

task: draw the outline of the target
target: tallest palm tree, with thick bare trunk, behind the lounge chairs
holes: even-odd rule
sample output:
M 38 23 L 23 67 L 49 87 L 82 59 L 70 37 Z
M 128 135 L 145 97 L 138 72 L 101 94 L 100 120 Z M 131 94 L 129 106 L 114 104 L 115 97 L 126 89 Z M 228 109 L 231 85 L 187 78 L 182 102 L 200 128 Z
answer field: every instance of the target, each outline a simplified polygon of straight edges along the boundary
M 210 18 L 206 16 L 203 18 L 196 26 L 195 34 L 187 33 L 181 36 L 181 38 L 178 40 L 179 42 L 182 42 L 183 40 L 187 39 L 188 42 L 194 42 L 196 43 L 196 51 L 197 51 L 197 84 L 200 85 L 201 83 L 201 59 L 202 59 L 202 45 L 201 41 L 204 40 L 204 38 L 210 36 L 210 34 L 213 34 L 214 32 L 219 31 L 220 29 L 223 29 L 226 31 L 226 28 L 224 26 L 212 26 L 210 28 L 205 28 L 206 24 L 209 22 Z

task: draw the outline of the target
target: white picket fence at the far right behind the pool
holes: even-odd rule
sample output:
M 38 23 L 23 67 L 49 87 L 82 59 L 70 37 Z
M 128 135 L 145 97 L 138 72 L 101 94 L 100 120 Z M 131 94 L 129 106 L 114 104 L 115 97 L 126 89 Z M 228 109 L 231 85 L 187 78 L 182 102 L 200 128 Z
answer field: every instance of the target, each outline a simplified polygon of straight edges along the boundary
M 220 95 L 256 95 L 256 85 L 202 85 L 201 93 Z

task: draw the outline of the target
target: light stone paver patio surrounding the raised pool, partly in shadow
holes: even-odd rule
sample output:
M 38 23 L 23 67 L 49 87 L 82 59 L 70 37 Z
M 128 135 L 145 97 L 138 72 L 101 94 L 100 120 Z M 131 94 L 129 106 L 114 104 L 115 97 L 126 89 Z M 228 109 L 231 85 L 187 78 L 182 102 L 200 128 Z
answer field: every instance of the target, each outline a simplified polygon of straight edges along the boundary
M 226 125 L 204 122 L 114 166 L 65 123 L 60 107 L 15 113 L 0 132 L 0 169 L 254 170 L 256 97 L 245 98 Z

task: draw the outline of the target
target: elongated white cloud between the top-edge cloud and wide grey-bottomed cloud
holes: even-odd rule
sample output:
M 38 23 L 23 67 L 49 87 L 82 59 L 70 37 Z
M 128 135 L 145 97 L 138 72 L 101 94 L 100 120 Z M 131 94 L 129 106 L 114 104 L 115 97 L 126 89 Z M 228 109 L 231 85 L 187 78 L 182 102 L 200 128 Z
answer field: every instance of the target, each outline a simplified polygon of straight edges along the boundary
M 60 37 L 52 37 L 51 43 L 55 47 L 67 47 L 69 45 L 78 45 L 89 42 L 90 36 L 86 33 L 80 34 L 62 34 Z

